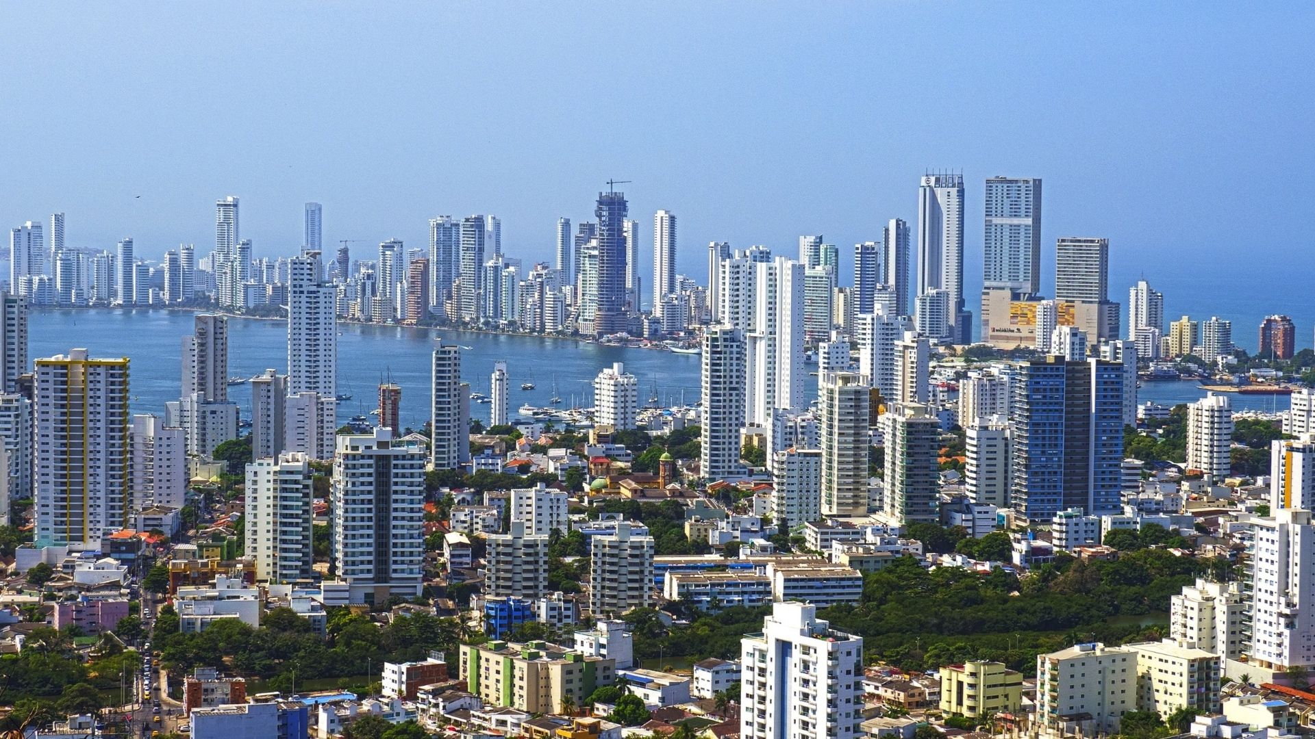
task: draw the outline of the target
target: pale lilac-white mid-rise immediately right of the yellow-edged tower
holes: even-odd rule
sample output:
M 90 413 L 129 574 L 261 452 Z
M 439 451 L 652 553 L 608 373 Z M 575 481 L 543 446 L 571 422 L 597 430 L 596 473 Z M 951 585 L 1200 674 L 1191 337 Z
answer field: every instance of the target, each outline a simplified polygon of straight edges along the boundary
M 183 430 L 164 426 L 159 416 L 133 416 L 128 450 L 129 508 L 183 508 L 188 480 Z

